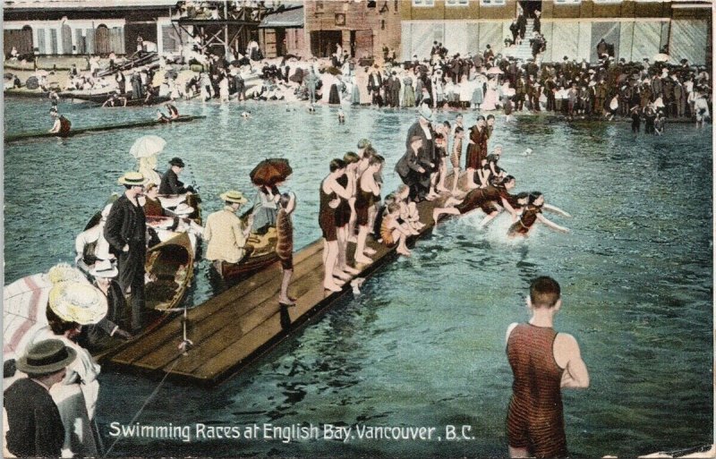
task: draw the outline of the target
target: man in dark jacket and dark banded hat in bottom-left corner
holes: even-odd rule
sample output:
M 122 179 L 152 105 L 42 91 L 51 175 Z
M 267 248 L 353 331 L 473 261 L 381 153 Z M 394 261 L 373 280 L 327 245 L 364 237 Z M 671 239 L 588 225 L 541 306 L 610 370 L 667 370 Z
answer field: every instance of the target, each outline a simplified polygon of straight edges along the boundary
M 4 391 L 8 430 L 7 450 L 17 457 L 60 457 L 64 426 L 50 387 L 64 379 L 77 353 L 62 341 L 48 339 L 30 347 L 16 362 L 28 378 L 17 379 Z

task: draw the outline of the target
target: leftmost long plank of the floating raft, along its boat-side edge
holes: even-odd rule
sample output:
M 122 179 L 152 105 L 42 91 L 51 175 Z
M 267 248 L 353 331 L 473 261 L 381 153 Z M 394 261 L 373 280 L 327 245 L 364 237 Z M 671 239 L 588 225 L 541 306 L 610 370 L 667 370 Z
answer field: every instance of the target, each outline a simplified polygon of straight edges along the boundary
M 302 251 L 299 251 L 294 258 L 294 269 L 298 269 L 303 262 L 311 258 L 311 255 L 322 250 L 322 247 L 322 242 L 314 242 Z M 255 276 L 251 276 L 240 284 L 234 285 L 234 287 L 226 290 L 226 292 L 210 298 L 207 302 L 193 308 L 187 315 L 190 323 L 199 324 L 203 319 L 217 314 L 217 311 L 230 306 L 234 302 L 243 300 L 245 295 L 262 290 L 264 285 L 277 279 L 277 276 L 279 276 L 278 270 L 278 263 L 275 263 L 264 271 L 257 273 Z M 247 304 L 250 303 L 247 302 Z M 181 336 L 182 333 L 181 324 L 182 319 L 177 318 L 150 335 L 140 336 L 124 347 L 122 351 L 116 353 L 111 361 L 120 364 L 130 364 L 140 360 L 152 350 L 157 349 L 167 342 L 175 343 L 177 337 Z M 157 364 L 156 368 L 160 366 L 163 366 L 163 364 Z

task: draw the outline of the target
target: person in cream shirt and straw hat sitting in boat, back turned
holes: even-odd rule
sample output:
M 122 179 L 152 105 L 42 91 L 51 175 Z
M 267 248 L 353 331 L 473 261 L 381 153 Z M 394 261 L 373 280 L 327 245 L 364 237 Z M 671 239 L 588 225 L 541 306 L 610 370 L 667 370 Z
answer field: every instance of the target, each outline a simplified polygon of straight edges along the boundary
M 248 200 L 241 191 L 226 191 L 220 195 L 224 208 L 207 218 L 204 228 L 204 240 L 208 242 L 206 259 L 213 262 L 238 263 L 248 257 L 253 247 L 246 243 L 251 232 L 253 216 L 248 217 L 244 225 L 236 211 Z M 219 272 L 220 267 L 217 267 Z

